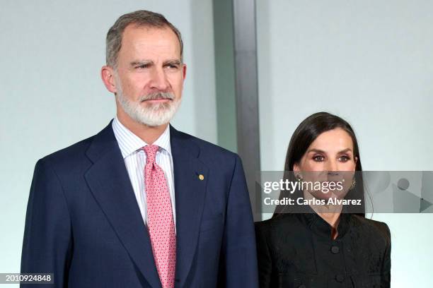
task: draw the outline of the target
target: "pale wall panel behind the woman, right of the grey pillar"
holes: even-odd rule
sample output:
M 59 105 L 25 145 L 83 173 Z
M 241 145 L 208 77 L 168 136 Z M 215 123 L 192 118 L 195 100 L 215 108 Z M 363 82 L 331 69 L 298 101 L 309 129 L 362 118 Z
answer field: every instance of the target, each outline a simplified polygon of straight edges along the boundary
M 433 2 L 256 4 L 262 170 L 282 170 L 322 110 L 352 124 L 365 170 L 433 170 Z M 432 287 L 433 215 L 374 219 L 391 229 L 392 287 Z

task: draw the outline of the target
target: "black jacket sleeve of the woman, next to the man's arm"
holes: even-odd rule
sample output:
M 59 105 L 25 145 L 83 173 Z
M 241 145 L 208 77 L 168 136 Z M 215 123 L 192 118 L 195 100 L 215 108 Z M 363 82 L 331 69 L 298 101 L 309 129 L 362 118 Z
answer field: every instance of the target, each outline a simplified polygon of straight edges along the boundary
M 265 227 L 262 226 L 262 223 L 255 223 L 260 288 L 270 288 L 272 279 L 272 259 L 267 246 L 264 229 Z

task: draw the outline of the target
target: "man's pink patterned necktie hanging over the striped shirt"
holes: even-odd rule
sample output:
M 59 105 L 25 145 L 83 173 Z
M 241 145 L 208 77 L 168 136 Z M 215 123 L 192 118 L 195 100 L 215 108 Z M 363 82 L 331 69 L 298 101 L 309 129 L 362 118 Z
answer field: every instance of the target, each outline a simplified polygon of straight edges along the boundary
M 144 146 L 146 152 L 146 203 L 148 229 L 154 252 L 156 270 L 163 288 L 174 287 L 176 236 L 170 192 L 163 169 L 155 162 L 159 146 Z

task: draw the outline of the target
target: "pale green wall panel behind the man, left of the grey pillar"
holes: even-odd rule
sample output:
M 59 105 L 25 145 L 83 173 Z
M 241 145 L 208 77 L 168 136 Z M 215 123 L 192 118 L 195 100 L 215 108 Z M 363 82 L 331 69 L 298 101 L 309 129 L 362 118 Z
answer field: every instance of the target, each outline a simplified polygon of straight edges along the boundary
M 35 162 L 115 115 L 100 80 L 105 35 L 139 9 L 163 13 L 183 34 L 187 78 L 173 125 L 217 143 L 211 0 L 1 1 L 0 272 L 20 270 Z

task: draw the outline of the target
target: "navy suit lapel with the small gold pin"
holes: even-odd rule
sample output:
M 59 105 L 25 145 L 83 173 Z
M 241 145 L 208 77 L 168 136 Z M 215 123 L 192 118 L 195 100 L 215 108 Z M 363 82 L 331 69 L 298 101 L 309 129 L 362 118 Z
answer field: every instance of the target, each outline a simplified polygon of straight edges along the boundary
M 198 160 L 200 148 L 191 136 L 170 128 L 176 204 L 175 287 L 183 287 L 197 248 L 208 168 Z

